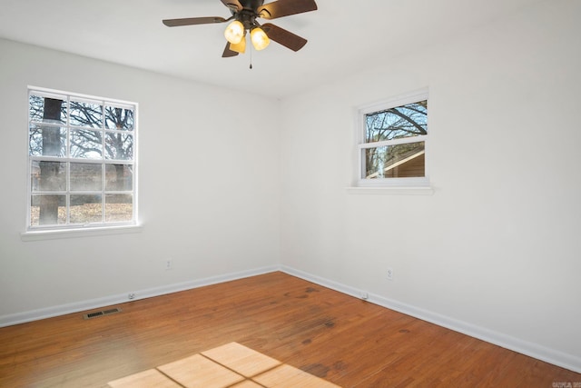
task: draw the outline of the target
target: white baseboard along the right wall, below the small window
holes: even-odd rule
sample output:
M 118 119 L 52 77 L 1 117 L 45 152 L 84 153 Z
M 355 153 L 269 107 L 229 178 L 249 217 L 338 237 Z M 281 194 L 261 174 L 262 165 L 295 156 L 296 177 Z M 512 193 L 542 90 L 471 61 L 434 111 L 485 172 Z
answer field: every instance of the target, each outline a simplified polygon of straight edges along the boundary
M 281 265 L 280 270 L 285 274 L 291 274 L 309 282 L 320 284 L 340 293 L 346 293 L 359 299 L 361 298 L 362 290 L 360 289 L 350 287 L 345 284 L 340 284 L 320 276 L 308 274 L 286 265 Z M 480 327 L 472 323 L 459 321 L 439 313 L 430 312 L 428 310 L 385 298 L 377 294 L 368 293 L 367 296 L 368 297 L 366 300 L 369 303 L 378 304 L 382 307 L 389 308 L 390 310 L 394 310 L 399 313 L 405 313 L 407 315 L 413 316 L 414 318 L 419 318 L 429 323 L 438 324 L 438 326 L 446 327 L 447 329 L 453 330 L 455 332 L 467 334 L 471 337 L 478 338 L 479 340 L 486 341 L 487 343 L 494 343 L 497 346 L 501 346 L 517 353 L 525 354 L 529 357 L 536 358 L 537 360 L 541 360 L 546 363 L 552 363 L 556 366 L 566 368 L 576 373 L 581 373 L 581 358 L 577 357 L 576 355 L 563 353 L 558 350 L 539 345 L 537 343 L 523 341 L 504 333 L 488 330 L 484 327 Z

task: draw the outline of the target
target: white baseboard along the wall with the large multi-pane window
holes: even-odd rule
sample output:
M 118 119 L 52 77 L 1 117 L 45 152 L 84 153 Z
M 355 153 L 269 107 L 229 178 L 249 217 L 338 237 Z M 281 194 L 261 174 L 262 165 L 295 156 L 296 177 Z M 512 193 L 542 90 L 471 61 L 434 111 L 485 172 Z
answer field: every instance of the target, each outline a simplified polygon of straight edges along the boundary
M 133 300 L 140 300 L 145 298 L 151 298 L 153 296 L 160 296 L 167 293 L 178 293 L 180 291 L 191 290 L 193 288 L 202 287 L 204 285 L 219 284 L 224 282 L 230 282 L 231 280 L 243 279 L 245 277 L 251 277 L 258 274 L 268 274 L 274 271 L 279 271 L 280 267 L 278 265 L 272 265 L 268 267 L 261 267 L 249 271 L 241 271 L 231 274 L 222 274 L 217 276 L 206 277 L 192 282 L 184 282 L 179 284 L 169 284 L 160 287 L 153 287 L 141 291 L 136 291 Z M 66 303 L 53 307 L 27 311 L 24 313 L 14 313 L 0 316 L 0 327 L 11 326 L 18 323 L 26 323 L 32 321 L 38 321 L 40 319 L 52 318 L 54 316 L 64 315 L 67 313 L 80 313 L 87 310 L 93 310 L 102 308 L 105 306 L 110 306 L 117 303 L 130 302 L 127 298 L 127 293 L 121 293 L 116 295 L 105 296 L 103 298 L 91 299 L 76 303 Z

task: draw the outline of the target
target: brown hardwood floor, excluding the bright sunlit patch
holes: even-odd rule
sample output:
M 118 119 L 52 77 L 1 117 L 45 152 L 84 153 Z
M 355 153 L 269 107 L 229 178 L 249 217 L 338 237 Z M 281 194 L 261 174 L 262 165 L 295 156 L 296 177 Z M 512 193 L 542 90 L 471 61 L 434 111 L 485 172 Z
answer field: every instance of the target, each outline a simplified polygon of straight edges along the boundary
M 0 329 L 0 387 L 107 382 L 237 342 L 342 387 L 543 387 L 581 374 L 288 274 Z

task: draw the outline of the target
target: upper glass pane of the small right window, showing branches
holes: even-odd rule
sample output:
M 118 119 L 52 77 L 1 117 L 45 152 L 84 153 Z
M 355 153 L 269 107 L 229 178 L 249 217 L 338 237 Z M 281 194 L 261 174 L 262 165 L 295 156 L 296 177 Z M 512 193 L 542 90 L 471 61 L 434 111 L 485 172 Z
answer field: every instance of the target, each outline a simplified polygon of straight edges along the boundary
M 428 134 L 428 101 L 365 114 L 366 143 Z

